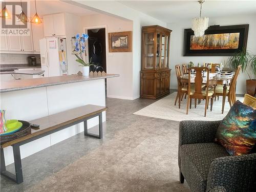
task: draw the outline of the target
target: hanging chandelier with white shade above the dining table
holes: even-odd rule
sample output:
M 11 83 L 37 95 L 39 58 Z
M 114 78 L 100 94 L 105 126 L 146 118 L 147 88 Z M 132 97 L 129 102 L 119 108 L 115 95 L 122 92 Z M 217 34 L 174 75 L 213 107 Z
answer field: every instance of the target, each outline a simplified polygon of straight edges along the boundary
M 201 17 L 202 13 L 202 4 L 204 1 L 198 1 L 200 3 L 200 17 L 196 17 L 192 19 L 192 27 L 191 29 L 194 31 L 196 37 L 201 37 L 204 35 L 204 31 L 208 28 L 208 17 Z

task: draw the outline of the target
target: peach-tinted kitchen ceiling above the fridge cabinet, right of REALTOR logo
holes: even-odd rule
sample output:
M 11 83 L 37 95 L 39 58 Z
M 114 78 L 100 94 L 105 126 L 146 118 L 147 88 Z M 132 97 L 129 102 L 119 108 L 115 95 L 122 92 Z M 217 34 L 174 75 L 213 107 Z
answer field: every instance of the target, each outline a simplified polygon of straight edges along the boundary
M 40 17 L 47 14 L 61 13 L 61 12 L 73 13 L 79 16 L 97 14 L 97 12 L 84 9 L 78 6 L 74 6 L 69 3 L 61 2 L 58 0 L 51 0 L 51 1 L 37 0 L 36 7 L 37 7 L 37 13 Z M 34 3 L 34 0 L 30 0 L 30 14 L 33 15 L 34 13 L 35 13 L 35 3 Z

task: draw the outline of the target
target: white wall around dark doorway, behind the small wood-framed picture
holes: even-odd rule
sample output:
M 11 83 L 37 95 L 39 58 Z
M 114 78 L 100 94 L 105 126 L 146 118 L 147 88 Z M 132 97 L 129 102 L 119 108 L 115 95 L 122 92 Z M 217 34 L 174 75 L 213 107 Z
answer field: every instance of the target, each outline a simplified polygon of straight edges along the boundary
M 105 26 L 106 33 L 119 31 L 133 31 L 133 22 L 106 14 L 83 16 L 81 25 L 84 28 Z M 107 37 L 108 38 L 108 37 Z M 107 96 L 111 98 L 133 98 L 133 53 L 109 53 L 108 40 L 106 42 L 106 72 L 119 74 L 120 77 L 107 79 Z

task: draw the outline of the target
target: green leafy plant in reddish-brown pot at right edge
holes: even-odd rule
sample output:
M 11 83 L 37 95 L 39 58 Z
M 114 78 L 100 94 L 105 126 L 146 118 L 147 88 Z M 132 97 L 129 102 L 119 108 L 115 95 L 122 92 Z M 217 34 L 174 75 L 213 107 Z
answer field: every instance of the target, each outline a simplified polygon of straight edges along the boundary
M 250 54 L 243 49 L 243 51 L 229 57 L 228 64 L 234 69 L 242 65 L 242 72 L 246 72 L 249 77 L 249 79 L 246 80 L 246 91 L 249 95 L 254 96 L 256 94 L 256 55 Z

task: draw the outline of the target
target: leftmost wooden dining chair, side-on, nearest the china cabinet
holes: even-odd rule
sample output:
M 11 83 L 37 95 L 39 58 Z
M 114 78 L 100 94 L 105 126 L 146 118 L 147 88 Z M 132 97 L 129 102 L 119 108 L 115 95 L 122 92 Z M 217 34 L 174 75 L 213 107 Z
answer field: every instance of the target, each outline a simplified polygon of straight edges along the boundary
M 179 109 L 180 109 L 180 101 L 182 100 L 183 95 L 185 94 L 186 96 L 187 94 L 187 86 L 184 83 L 182 83 L 180 80 L 180 76 L 182 75 L 180 70 L 180 65 L 175 66 L 175 71 L 176 71 L 176 77 L 177 77 L 177 83 L 178 83 L 178 93 L 177 93 L 174 105 L 176 105 L 177 100 L 179 99 Z

